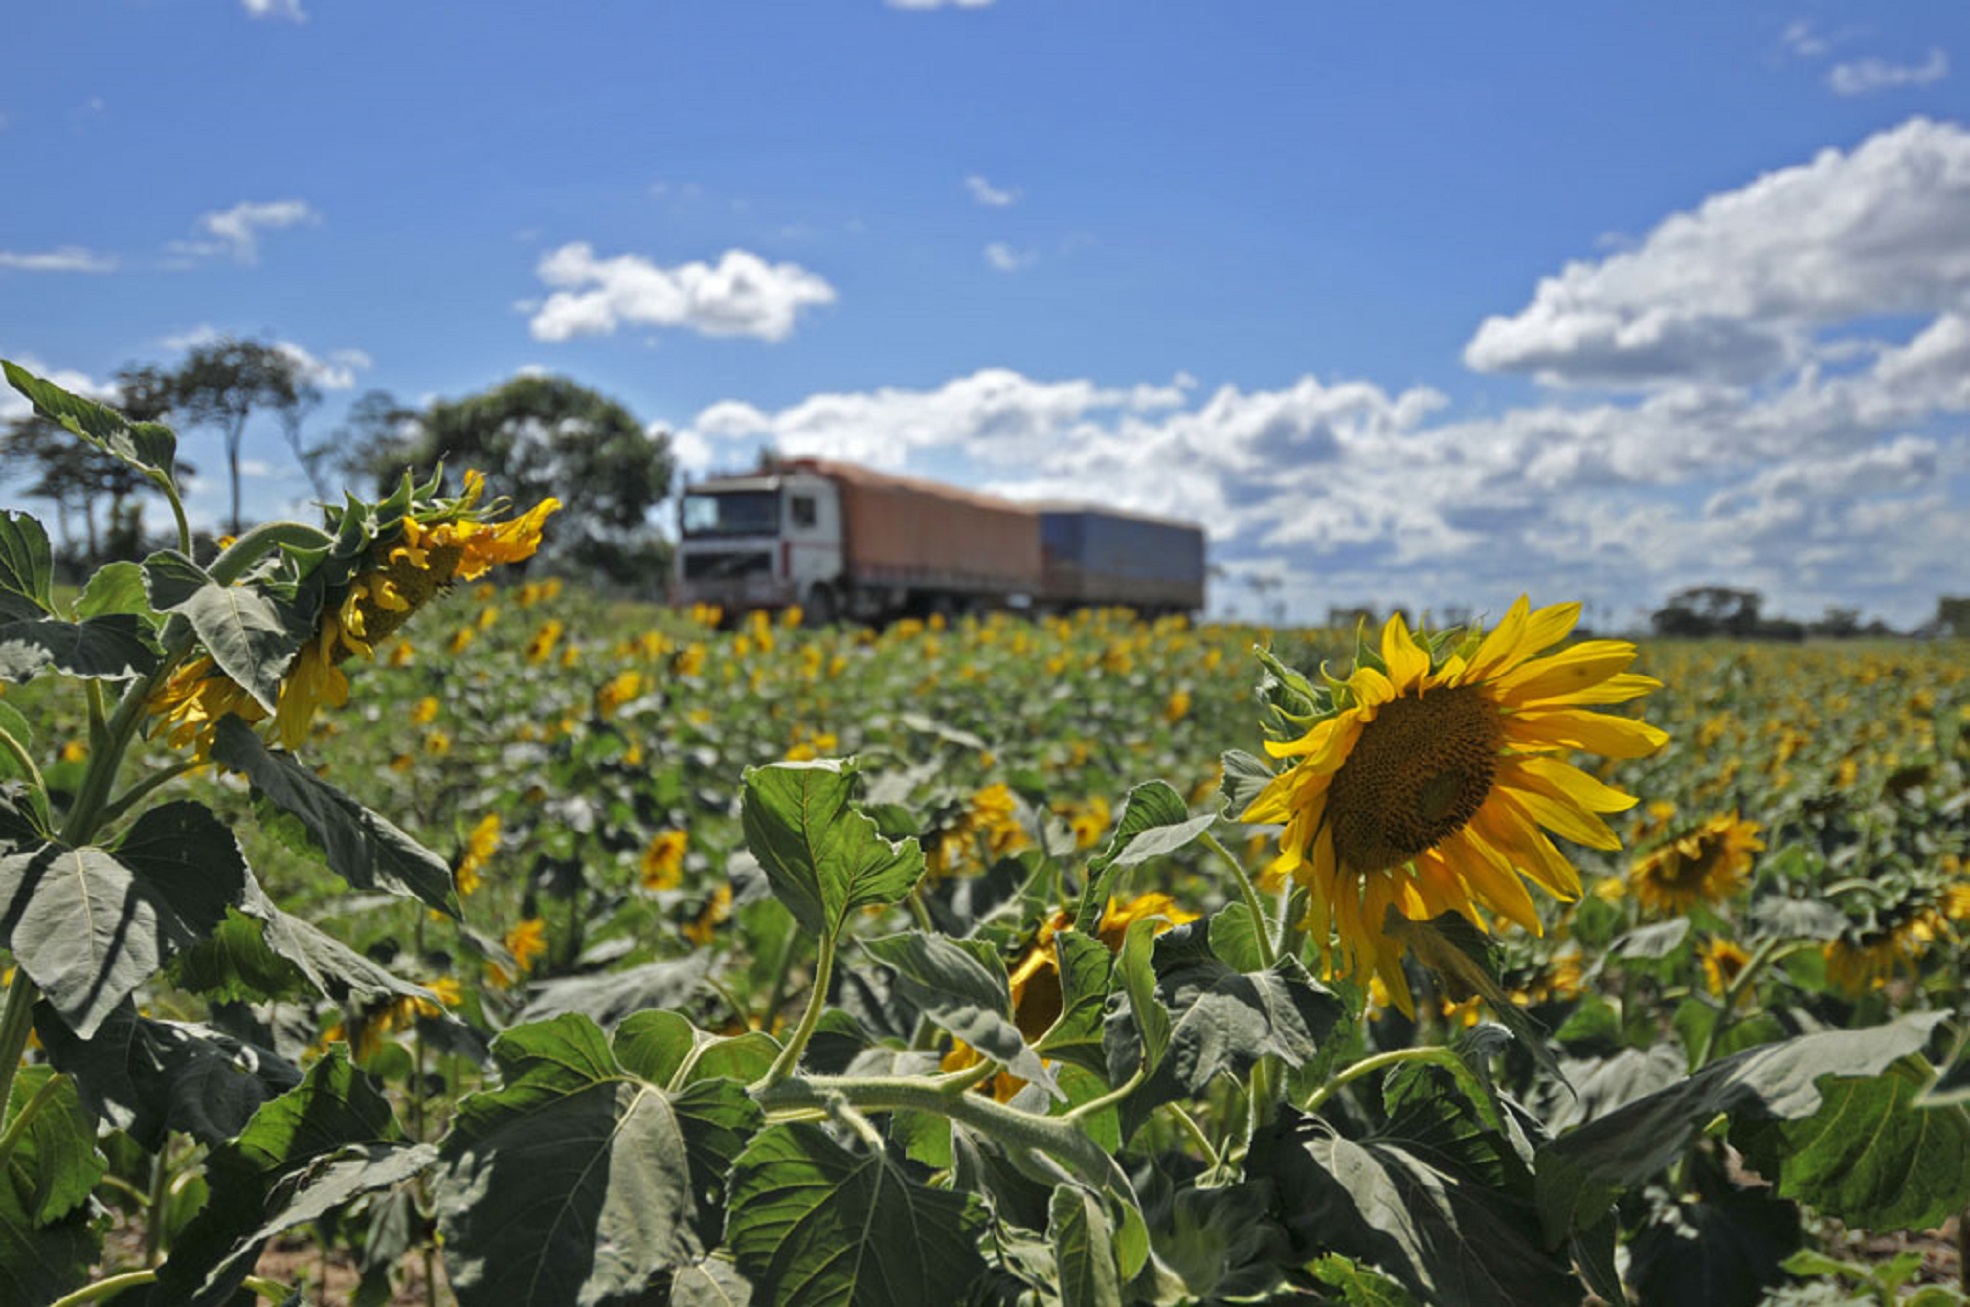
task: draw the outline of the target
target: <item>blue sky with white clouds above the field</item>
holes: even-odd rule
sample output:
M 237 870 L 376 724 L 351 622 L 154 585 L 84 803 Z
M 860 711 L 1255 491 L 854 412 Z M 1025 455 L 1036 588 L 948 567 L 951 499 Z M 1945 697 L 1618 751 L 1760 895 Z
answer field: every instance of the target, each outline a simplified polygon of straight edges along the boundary
M 1245 615 L 1253 578 L 1298 617 L 1970 589 L 1962 4 L 67 0 L 8 32 L 0 355 L 83 388 L 264 335 L 325 434 L 364 388 L 548 369 L 693 469 L 770 440 L 1204 520 Z M 250 503 L 305 507 L 278 428 L 248 446 Z

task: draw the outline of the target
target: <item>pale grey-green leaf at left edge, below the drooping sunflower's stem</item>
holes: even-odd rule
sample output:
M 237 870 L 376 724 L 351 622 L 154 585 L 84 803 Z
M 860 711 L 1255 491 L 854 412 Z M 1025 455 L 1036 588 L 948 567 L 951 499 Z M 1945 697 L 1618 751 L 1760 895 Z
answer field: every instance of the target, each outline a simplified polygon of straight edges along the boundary
M 98 848 L 43 844 L 0 858 L 0 942 L 77 1035 L 97 1025 L 195 932 Z

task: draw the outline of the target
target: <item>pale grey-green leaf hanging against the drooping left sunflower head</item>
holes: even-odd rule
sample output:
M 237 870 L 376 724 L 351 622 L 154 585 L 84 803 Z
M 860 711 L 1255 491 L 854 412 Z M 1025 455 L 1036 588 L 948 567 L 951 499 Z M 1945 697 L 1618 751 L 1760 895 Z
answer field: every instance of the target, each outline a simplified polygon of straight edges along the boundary
M 144 585 L 152 607 L 191 621 L 219 670 L 274 712 L 288 664 L 313 635 L 311 605 L 303 611 L 258 585 L 221 585 L 175 550 L 144 560 Z

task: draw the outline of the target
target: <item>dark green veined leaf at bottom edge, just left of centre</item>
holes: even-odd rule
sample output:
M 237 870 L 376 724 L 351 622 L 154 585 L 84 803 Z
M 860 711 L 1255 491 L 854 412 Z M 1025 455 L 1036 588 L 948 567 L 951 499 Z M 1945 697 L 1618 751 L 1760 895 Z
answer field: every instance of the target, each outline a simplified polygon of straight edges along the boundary
M 985 1273 L 985 1212 L 818 1126 L 762 1130 L 733 1167 L 725 1242 L 755 1293 L 782 1307 L 957 1303 Z

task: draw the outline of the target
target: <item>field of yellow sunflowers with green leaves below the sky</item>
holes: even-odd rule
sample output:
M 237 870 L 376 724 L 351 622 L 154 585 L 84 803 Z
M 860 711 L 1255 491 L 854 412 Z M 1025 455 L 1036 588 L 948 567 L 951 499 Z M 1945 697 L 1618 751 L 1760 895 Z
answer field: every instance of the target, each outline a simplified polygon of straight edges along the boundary
M 0 513 L 0 1303 L 1970 1303 L 1970 656 Z

